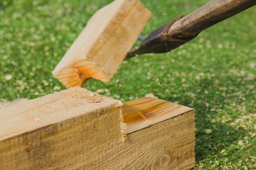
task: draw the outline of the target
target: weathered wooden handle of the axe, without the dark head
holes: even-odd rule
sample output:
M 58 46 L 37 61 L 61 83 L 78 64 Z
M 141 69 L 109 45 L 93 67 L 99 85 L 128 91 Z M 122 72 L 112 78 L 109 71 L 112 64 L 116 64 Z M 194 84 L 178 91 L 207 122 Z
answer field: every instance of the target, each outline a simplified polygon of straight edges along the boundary
M 256 0 L 211 0 L 175 22 L 168 30 L 168 37 L 191 37 L 255 4 Z

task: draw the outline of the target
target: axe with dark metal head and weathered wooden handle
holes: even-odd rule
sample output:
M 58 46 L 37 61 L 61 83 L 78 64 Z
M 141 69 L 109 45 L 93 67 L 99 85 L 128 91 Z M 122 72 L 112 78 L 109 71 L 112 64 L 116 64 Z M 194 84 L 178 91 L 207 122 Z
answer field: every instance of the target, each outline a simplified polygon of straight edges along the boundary
M 126 60 L 146 53 L 167 53 L 193 40 L 204 29 L 217 24 L 256 4 L 256 0 L 211 0 L 188 15 L 182 15 L 159 27 L 138 46 Z

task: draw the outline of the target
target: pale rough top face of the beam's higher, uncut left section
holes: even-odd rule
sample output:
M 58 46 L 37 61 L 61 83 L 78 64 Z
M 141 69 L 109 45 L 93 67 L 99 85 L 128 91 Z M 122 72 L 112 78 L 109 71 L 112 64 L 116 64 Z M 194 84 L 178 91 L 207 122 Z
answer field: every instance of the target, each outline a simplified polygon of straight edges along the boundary
M 0 109 L 0 141 L 121 105 L 118 100 L 79 87 L 21 102 Z

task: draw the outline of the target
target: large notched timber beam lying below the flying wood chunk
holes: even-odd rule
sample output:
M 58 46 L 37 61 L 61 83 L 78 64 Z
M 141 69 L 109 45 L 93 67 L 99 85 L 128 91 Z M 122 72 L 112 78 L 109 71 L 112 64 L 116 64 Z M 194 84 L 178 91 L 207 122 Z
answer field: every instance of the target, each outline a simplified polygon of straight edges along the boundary
M 0 170 L 193 167 L 193 108 L 153 98 L 121 105 L 70 88 L 0 110 Z

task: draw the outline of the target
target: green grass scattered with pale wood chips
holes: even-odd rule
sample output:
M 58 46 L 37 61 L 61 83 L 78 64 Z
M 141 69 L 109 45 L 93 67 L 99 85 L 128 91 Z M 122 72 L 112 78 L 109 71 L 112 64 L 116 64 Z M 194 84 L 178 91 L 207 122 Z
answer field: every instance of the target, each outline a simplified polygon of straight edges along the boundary
M 92 14 L 109 2 L 2 0 L 0 99 L 33 99 L 65 89 L 52 70 Z M 142 2 L 153 12 L 142 33 L 147 35 L 207 0 Z M 153 93 L 193 107 L 195 169 L 256 170 L 255 16 L 252 7 L 170 53 L 123 62 L 109 83 L 90 80 L 84 87 L 121 101 Z

